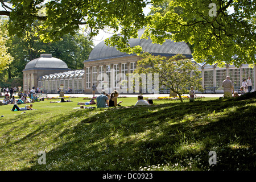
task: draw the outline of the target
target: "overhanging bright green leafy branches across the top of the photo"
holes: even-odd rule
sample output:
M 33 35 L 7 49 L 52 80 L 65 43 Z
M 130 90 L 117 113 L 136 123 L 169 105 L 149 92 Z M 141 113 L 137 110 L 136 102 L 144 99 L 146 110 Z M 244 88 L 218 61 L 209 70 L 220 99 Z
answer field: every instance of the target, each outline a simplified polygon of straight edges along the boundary
M 19 36 L 38 21 L 44 21 L 37 27 L 44 42 L 56 41 L 68 33 L 73 35 L 80 25 L 86 26 L 90 38 L 108 27 L 115 34 L 106 39 L 107 45 L 117 45 L 123 52 L 141 53 L 142 48 L 130 47 L 128 40 L 137 38 L 137 31 L 146 27 L 143 37 L 150 36 L 154 43 L 172 39 L 191 44 L 197 62 L 224 64 L 225 61 L 237 66 L 255 63 L 256 2 L 253 0 L 6 0 L 0 3 L 3 7 L 0 15 L 10 17 L 11 35 Z M 153 7 L 150 15 L 143 14 L 147 5 Z M 165 9 L 161 10 L 159 5 Z M 234 12 L 229 12 L 230 8 Z M 234 55 L 238 57 L 232 59 Z

